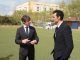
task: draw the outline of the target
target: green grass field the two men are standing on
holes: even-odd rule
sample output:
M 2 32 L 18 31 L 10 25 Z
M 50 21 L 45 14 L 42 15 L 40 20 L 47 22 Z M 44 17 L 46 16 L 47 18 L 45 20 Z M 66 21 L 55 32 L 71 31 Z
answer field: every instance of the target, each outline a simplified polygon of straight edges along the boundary
M 0 26 L 0 60 L 18 60 L 19 45 L 15 44 L 17 27 Z M 36 60 L 53 60 L 54 30 L 37 29 L 40 42 L 35 46 Z M 70 60 L 80 60 L 80 30 L 73 30 L 74 49 Z M 10 57 L 10 58 L 9 58 Z

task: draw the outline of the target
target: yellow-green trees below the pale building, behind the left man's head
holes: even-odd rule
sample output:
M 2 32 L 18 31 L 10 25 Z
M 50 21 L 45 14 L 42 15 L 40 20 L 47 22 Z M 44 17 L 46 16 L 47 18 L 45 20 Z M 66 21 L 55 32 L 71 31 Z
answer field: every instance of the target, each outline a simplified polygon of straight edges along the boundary
M 21 17 L 23 15 L 29 15 L 31 17 L 31 21 L 48 21 L 50 18 L 50 12 L 49 11 L 43 11 L 43 12 L 27 12 L 27 11 L 15 11 L 15 13 L 12 15 L 12 17 L 17 21 L 21 21 Z

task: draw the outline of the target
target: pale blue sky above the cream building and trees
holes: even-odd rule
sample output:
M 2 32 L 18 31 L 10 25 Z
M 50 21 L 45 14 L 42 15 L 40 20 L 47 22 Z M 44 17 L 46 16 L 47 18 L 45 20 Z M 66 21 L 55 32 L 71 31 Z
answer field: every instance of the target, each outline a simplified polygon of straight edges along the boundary
M 0 0 L 0 15 L 11 15 L 15 11 L 17 5 L 25 3 L 29 0 Z M 59 3 L 61 0 L 35 0 L 37 2 Z M 66 0 L 65 0 L 66 2 Z

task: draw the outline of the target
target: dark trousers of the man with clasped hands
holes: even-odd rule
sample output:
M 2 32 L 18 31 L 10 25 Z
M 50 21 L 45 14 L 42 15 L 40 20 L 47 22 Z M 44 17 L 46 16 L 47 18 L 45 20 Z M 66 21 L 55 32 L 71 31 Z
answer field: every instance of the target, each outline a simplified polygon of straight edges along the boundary
M 19 60 L 35 60 L 34 47 L 20 48 L 19 50 Z

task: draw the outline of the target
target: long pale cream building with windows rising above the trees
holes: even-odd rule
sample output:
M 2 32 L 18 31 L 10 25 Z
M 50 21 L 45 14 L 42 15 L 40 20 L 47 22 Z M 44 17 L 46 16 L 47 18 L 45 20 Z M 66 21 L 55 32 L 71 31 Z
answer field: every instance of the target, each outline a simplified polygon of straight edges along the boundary
M 18 11 L 32 11 L 32 12 L 42 12 L 42 11 L 51 11 L 60 9 L 58 4 L 51 4 L 51 3 L 40 3 L 35 1 L 29 1 L 26 3 L 23 3 L 21 5 L 18 5 L 16 7 L 16 10 Z

